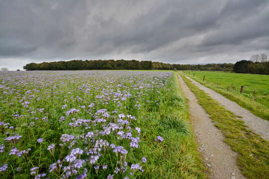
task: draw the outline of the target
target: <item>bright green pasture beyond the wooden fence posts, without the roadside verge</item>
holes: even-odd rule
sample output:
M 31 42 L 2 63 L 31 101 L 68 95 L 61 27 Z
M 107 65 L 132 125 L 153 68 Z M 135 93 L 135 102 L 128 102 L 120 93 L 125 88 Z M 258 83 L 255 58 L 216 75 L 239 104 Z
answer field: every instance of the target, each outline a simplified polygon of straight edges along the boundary
M 269 107 L 269 76 L 257 74 L 238 74 L 231 72 L 209 72 L 209 71 L 184 71 L 190 77 L 225 89 L 237 95 L 243 95 L 258 103 Z M 240 88 L 244 86 L 243 94 Z

